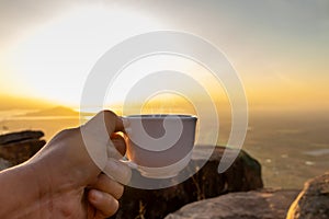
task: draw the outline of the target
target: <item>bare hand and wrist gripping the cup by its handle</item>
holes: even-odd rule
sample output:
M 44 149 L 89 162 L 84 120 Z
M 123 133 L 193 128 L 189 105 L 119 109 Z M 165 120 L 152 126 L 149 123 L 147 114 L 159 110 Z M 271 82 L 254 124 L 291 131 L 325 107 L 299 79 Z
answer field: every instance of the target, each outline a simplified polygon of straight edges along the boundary
M 98 127 L 100 120 L 105 122 L 113 142 L 110 151 L 116 151 L 103 166 L 112 177 L 92 161 L 80 131 Z M 60 131 L 27 162 L 2 171 L 0 218 L 101 219 L 114 215 L 123 194 L 121 183 L 131 177 L 129 168 L 118 161 L 117 154 L 124 154 L 126 146 L 117 131 L 124 131 L 121 118 L 101 112 L 79 128 Z M 105 147 L 100 143 L 109 136 L 95 146 Z

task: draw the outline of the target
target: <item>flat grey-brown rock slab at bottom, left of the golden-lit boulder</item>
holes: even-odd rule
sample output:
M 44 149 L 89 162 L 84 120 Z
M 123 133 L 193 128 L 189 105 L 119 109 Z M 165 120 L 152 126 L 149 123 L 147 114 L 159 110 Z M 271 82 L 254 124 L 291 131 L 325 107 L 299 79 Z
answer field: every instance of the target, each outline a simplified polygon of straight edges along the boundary
M 230 193 L 195 201 L 164 219 L 284 219 L 298 191 L 262 189 Z

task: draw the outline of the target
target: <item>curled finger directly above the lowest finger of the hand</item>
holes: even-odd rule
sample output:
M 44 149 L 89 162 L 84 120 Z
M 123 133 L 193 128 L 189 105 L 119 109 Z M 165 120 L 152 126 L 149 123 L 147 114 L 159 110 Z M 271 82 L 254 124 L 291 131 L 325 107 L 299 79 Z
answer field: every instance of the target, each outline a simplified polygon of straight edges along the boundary
M 93 189 L 98 189 L 112 195 L 115 199 L 121 198 L 124 192 L 124 186 L 105 174 L 100 174 L 97 182 L 91 185 Z

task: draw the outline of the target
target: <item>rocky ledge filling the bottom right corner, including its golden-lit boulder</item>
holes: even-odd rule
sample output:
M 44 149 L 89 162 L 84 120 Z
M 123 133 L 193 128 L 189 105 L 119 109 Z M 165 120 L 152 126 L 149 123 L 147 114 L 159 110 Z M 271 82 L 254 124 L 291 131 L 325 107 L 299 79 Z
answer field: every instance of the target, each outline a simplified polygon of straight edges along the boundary
M 258 189 L 229 193 L 185 205 L 164 219 L 328 219 L 329 173 L 305 183 L 303 191 Z

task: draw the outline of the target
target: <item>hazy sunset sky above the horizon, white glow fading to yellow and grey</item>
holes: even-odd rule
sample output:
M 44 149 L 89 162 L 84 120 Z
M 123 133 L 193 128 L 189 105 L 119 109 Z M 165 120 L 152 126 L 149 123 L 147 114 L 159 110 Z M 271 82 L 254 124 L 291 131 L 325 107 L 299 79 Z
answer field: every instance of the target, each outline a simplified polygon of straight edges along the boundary
M 0 30 L 0 94 L 76 106 L 106 50 L 137 34 L 172 30 L 219 48 L 239 73 L 251 108 L 329 108 L 327 0 L 1 0 Z M 158 57 L 137 67 L 163 64 L 193 66 Z M 191 71 L 204 78 L 196 69 Z M 134 71 L 126 74 L 131 79 L 117 89 L 136 80 Z M 211 83 L 205 79 L 203 85 Z M 216 89 L 211 92 L 216 95 Z

